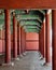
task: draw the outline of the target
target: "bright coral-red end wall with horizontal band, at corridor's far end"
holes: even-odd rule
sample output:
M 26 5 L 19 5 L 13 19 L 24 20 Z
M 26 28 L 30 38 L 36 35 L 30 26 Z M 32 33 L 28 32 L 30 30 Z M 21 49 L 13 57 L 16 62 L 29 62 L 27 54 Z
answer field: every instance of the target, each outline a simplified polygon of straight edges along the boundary
M 39 34 L 36 32 L 26 33 L 26 50 L 39 50 Z

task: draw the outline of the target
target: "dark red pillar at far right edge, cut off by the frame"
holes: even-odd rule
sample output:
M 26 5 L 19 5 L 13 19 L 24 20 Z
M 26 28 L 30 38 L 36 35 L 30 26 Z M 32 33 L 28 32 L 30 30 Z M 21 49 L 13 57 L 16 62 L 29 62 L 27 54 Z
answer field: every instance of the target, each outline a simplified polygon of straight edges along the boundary
M 53 43 L 53 51 L 52 51 L 52 54 L 53 54 L 53 70 L 56 70 L 56 10 L 53 10 L 52 11 L 52 30 L 53 30 L 53 40 L 52 40 L 52 43 Z

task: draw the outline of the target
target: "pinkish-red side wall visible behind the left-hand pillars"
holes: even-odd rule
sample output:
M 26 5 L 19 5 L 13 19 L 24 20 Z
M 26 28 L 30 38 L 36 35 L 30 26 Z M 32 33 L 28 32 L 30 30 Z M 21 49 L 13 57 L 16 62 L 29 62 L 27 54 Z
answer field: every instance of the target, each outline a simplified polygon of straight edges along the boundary
M 0 30 L 0 53 L 5 52 L 5 34 L 4 30 Z M 11 34 L 11 47 L 13 50 L 13 34 Z

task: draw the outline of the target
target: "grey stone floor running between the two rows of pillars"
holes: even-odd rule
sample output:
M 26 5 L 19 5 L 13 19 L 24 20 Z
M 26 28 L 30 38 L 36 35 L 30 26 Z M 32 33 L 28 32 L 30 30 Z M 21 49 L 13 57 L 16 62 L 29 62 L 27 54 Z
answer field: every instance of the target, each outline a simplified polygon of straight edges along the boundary
M 19 61 L 14 61 L 13 67 L 0 67 L 0 70 L 52 70 L 51 66 L 42 66 L 38 52 L 28 52 Z

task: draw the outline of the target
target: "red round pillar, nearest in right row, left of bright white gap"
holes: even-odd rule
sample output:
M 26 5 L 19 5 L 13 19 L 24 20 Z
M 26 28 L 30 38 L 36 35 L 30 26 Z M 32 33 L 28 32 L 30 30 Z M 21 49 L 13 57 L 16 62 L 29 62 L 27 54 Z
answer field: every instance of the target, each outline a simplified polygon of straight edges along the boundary
M 51 25 L 50 15 L 45 15 L 45 62 L 51 61 Z

